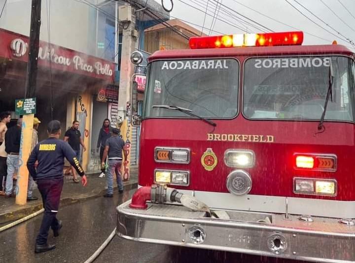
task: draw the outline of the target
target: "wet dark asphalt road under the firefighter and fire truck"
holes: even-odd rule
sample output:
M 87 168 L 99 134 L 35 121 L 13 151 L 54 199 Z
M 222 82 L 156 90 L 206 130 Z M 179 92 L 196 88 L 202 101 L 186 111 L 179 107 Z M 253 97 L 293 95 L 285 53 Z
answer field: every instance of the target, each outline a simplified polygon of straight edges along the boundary
M 35 254 L 34 246 L 42 215 L 0 233 L 0 263 L 82 263 L 106 240 L 116 224 L 115 207 L 128 200 L 134 190 L 114 198 L 99 197 L 60 209 L 60 236 L 49 234 L 57 248 Z M 297 263 L 275 258 L 213 250 L 155 245 L 115 236 L 95 263 Z

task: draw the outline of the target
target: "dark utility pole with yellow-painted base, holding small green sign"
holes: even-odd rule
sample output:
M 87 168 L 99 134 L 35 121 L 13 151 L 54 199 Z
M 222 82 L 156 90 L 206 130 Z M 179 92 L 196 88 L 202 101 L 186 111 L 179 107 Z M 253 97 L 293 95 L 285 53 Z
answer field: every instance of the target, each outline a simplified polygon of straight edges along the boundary
M 30 43 L 29 43 L 29 59 L 27 63 L 26 77 L 26 98 L 34 98 L 36 94 L 37 83 L 37 64 L 39 49 L 39 28 L 41 15 L 41 0 L 32 0 L 31 4 L 31 26 L 30 26 Z M 35 114 L 25 114 L 22 119 L 21 144 L 19 153 L 19 169 L 16 186 L 16 204 L 24 205 L 27 202 L 27 188 L 29 172 L 26 164 L 31 153 L 33 123 Z

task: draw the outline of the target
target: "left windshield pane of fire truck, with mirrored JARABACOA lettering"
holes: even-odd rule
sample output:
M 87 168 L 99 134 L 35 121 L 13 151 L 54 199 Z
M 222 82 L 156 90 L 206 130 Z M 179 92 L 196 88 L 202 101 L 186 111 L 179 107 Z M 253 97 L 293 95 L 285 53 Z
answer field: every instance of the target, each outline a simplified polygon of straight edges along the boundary
M 181 59 L 150 63 L 143 117 L 189 117 L 154 105 L 173 105 L 204 118 L 238 112 L 239 63 L 235 59 Z

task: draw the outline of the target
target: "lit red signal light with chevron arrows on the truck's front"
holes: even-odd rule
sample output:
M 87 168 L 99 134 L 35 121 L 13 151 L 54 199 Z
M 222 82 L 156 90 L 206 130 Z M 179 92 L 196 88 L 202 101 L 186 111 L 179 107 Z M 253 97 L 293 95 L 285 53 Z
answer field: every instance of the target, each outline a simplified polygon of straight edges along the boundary
M 295 169 L 305 169 L 313 171 L 336 171 L 335 154 L 323 153 L 295 153 Z

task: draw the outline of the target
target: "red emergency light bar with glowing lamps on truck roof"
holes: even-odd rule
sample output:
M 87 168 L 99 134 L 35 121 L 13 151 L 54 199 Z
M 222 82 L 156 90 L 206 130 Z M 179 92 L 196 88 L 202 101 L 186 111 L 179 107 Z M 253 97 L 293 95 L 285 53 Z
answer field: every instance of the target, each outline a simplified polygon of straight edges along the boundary
M 212 37 L 192 37 L 189 40 L 191 49 L 243 47 L 243 46 L 288 46 L 301 45 L 303 32 L 279 32 L 260 34 L 235 34 Z

